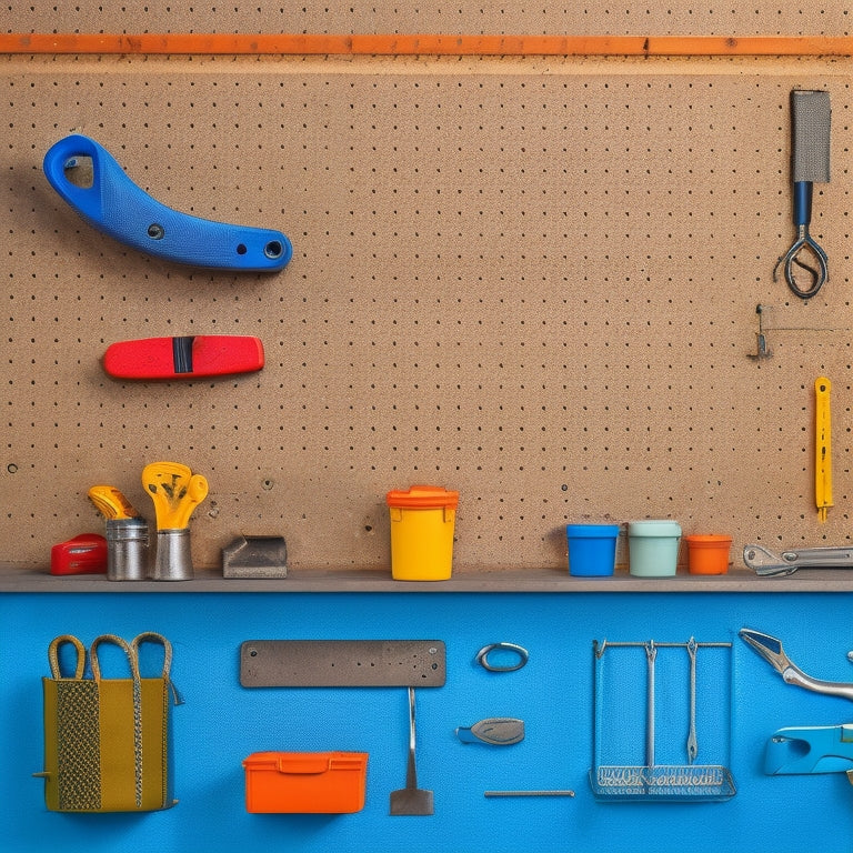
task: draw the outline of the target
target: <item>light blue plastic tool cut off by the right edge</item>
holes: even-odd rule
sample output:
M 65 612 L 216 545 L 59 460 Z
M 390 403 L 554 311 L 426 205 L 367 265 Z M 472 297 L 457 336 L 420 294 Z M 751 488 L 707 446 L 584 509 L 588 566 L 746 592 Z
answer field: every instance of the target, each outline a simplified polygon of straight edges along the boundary
M 767 741 L 769 776 L 853 771 L 853 725 L 780 729 Z

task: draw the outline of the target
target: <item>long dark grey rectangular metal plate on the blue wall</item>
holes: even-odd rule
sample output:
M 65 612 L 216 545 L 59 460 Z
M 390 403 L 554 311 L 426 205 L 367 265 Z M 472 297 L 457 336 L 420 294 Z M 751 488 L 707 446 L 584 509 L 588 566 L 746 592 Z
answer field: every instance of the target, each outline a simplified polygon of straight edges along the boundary
M 247 640 L 244 688 L 440 688 L 441 640 Z

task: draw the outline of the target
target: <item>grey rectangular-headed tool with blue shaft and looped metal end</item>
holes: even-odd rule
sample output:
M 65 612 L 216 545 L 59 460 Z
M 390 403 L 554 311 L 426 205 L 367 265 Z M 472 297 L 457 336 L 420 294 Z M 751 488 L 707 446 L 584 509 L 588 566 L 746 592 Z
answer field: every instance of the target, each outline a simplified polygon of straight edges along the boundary
M 786 254 L 779 259 L 773 281 L 776 281 L 779 268 L 783 267 L 787 287 L 800 299 L 811 299 L 829 278 L 826 252 L 811 237 L 809 225 L 812 221 L 813 184 L 830 181 L 831 116 L 829 92 L 791 92 L 791 172 L 796 237 Z M 807 288 L 797 283 L 794 267 L 811 275 Z

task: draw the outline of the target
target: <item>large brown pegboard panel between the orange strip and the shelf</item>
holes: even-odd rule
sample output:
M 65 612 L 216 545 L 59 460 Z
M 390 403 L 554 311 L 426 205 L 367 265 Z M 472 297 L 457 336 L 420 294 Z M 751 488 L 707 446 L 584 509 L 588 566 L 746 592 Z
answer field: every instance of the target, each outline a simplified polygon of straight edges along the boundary
M 735 554 L 850 540 L 849 64 L 7 58 L 0 84 L 4 559 L 98 531 L 94 483 L 151 516 L 158 459 L 210 481 L 198 565 L 239 533 L 284 535 L 297 569 L 387 565 L 384 494 L 418 482 L 460 491 L 465 569 L 562 565 L 585 520 L 673 518 Z M 807 303 L 772 279 L 793 88 L 833 107 L 812 224 L 831 280 Z M 41 172 L 74 130 L 170 207 L 284 231 L 293 260 L 218 274 L 93 231 Z M 255 334 L 267 367 L 153 384 L 99 364 L 200 333 Z

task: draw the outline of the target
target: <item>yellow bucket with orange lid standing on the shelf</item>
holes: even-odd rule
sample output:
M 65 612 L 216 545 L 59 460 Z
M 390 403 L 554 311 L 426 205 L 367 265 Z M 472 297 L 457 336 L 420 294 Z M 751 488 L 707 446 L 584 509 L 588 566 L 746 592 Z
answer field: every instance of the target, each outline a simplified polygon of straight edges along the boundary
M 453 569 L 459 492 L 413 485 L 385 498 L 391 513 L 391 576 L 395 581 L 446 581 Z

